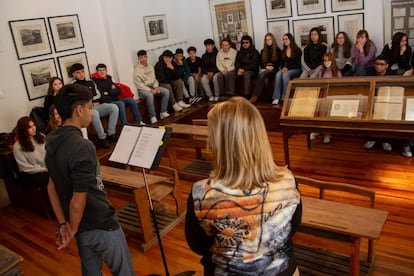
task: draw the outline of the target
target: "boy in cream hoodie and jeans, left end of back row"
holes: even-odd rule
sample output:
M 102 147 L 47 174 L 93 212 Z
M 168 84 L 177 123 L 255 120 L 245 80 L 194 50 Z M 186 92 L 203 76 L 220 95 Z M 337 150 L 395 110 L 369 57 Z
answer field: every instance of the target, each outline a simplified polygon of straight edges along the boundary
M 170 116 L 167 112 L 170 91 L 164 87 L 159 87 L 155 78 L 154 67 L 148 64 L 147 51 L 139 50 L 137 52 L 138 63 L 134 69 L 134 83 L 138 89 L 138 96 L 147 104 L 151 124 L 158 122 L 155 114 L 154 97 L 161 97 L 160 118 L 165 119 Z

